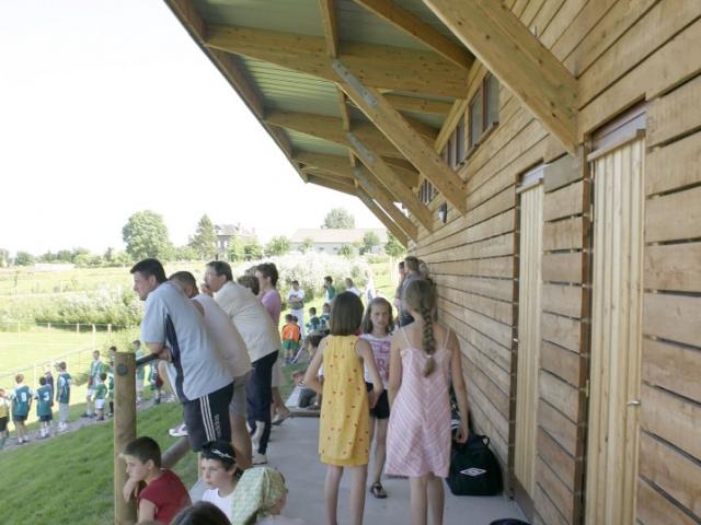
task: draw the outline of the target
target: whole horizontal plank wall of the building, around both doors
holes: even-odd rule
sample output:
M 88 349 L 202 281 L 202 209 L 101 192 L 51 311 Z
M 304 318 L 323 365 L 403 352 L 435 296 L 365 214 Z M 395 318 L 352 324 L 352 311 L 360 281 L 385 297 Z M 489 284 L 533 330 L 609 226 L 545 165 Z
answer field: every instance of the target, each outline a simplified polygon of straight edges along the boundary
M 516 0 L 514 13 L 579 80 L 578 132 L 640 102 L 650 110 L 640 523 L 701 520 L 701 2 Z M 468 98 L 481 74 L 471 74 Z M 507 89 L 499 125 L 460 170 L 469 211 L 421 229 L 440 319 L 462 346 L 472 419 L 513 460 L 520 174 L 564 149 Z M 578 164 L 577 164 L 578 162 Z M 568 164 L 567 164 L 568 163 Z M 568 168 L 565 166 L 568 165 Z M 556 168 L 554 166 L 558 166 Z M 556 171 L 555 171 L 556 170 Z M 560 184 L 558 180 L 563 184 Z M 562 158 L 545 178 L 543 342 L 535 523 L 578 523 L 586 435 L 588 180 Z M 430 207 L 445 202 L 439 196 Z

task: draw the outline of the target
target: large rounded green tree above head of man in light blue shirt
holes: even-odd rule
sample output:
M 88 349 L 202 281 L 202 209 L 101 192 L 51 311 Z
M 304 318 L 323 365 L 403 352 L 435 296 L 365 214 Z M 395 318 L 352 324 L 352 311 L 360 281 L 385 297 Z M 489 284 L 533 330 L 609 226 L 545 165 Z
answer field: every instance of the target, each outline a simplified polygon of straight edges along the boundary
M 173 253 L 163 218 L 150 210 L 137 211 L 129 217 L 122 229 L 122 238 L 135 260 L 147 257 L 168 260 Z

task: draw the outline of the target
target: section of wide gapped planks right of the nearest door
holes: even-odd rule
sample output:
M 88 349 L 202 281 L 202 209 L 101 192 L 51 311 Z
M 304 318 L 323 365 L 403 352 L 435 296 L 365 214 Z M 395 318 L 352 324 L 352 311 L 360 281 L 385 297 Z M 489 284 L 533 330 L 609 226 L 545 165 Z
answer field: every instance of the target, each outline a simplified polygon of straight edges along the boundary
M 645 525 L 701 523 L 700 129 L 701 75 L 652 103 L 637 487 Z

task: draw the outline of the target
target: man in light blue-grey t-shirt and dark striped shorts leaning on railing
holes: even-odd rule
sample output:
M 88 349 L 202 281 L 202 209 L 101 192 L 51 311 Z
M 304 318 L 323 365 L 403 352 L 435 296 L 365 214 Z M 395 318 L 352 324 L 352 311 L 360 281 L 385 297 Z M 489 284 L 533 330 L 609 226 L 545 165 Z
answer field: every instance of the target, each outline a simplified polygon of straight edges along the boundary
M 134 290 L 146 301 L 141 340 L 151 353 L 175 368 L 173 387 L 183 404 L 193 451 L 217 440 L 230 442 L 233 378 L 204 317 L 179 287 L 165 280 L 159 260 L 143 259 L 131 273 Z

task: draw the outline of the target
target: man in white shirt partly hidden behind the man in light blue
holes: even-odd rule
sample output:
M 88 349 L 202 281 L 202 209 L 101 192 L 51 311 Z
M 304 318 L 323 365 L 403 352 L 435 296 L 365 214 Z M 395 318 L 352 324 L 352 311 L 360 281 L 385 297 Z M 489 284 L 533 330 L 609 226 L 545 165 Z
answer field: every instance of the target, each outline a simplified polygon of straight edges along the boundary
M 245 428 L 245 385 L 251 377 L 251 358 L 245 342 L 227 313 L 205 293 L 199 293 L 195 276 L 189 271 L 177 271 L 169 277 L 191 298 L 211 334 L 219 352 L 233 377 L 233 396 L 229 405 L 232 444 L 241 468 L 251 466 L 251 439 Z

